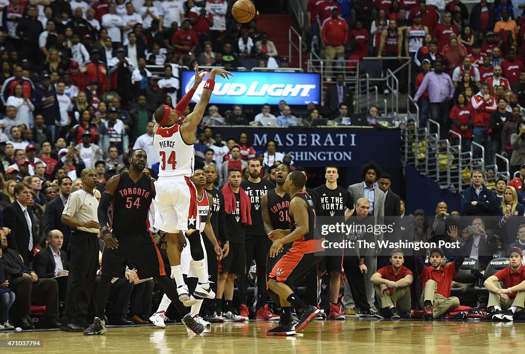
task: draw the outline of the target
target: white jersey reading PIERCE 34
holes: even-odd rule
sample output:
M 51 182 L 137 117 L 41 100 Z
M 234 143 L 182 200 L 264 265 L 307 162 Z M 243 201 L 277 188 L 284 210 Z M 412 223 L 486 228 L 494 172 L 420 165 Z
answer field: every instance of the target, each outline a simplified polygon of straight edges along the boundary
M 159 153 L 159 177 L 186 176 L 193 174 L 195 148 L 182 140 L 180 124 L 159 127 L 153 136 L 153 147 Z

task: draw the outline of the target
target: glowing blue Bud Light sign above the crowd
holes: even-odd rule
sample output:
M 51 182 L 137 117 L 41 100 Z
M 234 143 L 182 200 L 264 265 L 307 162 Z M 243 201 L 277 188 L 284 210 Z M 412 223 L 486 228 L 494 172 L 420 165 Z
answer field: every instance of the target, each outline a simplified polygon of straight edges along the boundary
M 220 76 L 215 78 L 215 89 L 209 103 L 213 104 L 279 104 L 284 99 L 289 105 L 304 105 L 321 102 L 321 83 L 319 74 L 295 72 L 232 72 L 229 80 Z M 192 97 L 197 102 L 202 95 L 204 83 L 209 76 L 206 72 L 202 83 Z M 190 91 L 195 72 L 182 72 L 182 94 Z

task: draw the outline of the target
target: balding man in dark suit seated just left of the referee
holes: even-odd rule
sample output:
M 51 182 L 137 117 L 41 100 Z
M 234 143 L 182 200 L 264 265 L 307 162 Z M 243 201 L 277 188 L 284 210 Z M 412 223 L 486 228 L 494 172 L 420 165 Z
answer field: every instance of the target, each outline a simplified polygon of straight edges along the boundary
M 33 268 L 40 279 L 57 278 L 58 295 L 61 301 L 66 299 L 67 278 L 69 273 L 69 262 L 67 254 L 62 251 L 64 235 L 60 230 L 51 230 L 47 235 L 47 247 L 38 252 L 33 260 Z

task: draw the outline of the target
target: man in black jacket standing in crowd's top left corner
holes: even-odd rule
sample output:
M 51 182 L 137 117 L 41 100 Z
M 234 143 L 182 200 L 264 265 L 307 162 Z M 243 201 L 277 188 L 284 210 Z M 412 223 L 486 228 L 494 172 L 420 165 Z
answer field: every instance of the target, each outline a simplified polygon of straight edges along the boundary
M 38 37 L 44 28 L 42 23 L 37 19 L 38 9 L 34 5 L 27 7 L 27 15 L 20 20 L 16 27 L 16 34 L 24 41 L 22 46 L 22 58 L 29 58 L 33 61 L 34 66 L 42 63 L 42 52 L 38 46 Z

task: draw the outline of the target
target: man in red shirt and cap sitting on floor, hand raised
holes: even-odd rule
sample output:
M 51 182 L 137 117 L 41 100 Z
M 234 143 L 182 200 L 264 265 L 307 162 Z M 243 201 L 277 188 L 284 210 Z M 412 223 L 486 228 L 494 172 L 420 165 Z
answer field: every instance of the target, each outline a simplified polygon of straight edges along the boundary
M 450 226 L 448 236 L 451 242 L 458 241 L 457 227 Z M 430 266 L 425 266 L 421 257 L 416 257 L 416 270 L 423 283 L 420 304 L 424 319 L 439 319 L 441 316 L 459 306 L 459 298 L 450 296 L 452 279 L 459 272 L 465 256 L 463 248 L 456 249 L 454 262 L 442 266 L 444 253 L 440 248 L 430 249 Z

